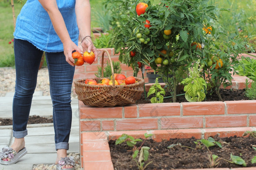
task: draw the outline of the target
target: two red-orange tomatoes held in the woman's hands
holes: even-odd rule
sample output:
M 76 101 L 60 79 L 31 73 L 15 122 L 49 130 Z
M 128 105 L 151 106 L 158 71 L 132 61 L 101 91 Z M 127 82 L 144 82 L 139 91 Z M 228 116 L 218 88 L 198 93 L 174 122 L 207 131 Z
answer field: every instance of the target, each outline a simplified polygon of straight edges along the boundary
M 87 62 L 91 65 L 95 59 L 95 55 L 94 55 L 93 51 L 91 51 L 90 53 L 88 51 L 85 51 L 83 53 L 83 55 L 80 54 L 79 52 L 75 51 L 74 53 L 72 53 L 72 57 L 75 60 L 74 64 L 76 66 L 82 66 L 84 64 L 84 62 Z

